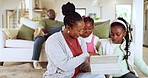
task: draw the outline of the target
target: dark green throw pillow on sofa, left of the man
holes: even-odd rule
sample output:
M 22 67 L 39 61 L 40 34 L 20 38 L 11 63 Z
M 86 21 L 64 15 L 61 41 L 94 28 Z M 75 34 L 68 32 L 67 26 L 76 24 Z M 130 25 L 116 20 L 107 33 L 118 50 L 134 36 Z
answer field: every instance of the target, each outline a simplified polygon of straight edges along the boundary
M 33 33 L 34 33 L 34 29 L 26 25 L 22 25 L 18 32 L 17 38 L 24 39 L 24 40 L 33 40 Z

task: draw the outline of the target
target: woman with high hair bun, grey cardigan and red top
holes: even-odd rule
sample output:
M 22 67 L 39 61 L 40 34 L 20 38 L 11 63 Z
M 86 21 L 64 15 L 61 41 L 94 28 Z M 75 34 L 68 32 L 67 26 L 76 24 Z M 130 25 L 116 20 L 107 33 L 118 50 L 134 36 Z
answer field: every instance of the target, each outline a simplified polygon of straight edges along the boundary
M 73 3 L 64 4 L 62 13 L 64 30 L 51 35 L 46 41 L 48 65 L 43 78 L 104 78 L 104 75 L 91 75 L 79 70 L 79 66 L 89 57 L 86 43 L 80 37 L 84 21 L 75 12 Z

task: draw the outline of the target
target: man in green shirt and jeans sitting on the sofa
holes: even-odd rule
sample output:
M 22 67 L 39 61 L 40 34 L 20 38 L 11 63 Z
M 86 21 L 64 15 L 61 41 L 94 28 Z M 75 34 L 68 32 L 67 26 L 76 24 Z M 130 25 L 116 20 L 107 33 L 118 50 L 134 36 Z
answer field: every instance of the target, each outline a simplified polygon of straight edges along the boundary
M 34 47 L 33 47 L 33 66 L 35 69 L 42 69 L 39 63 L 40 52 L 42 49 L 43 43 L 46 39 L 53 33 L 62 30 L 63 23 L 56 21 L 55 11 L 53 9 L 49 9 L 47 11 L 48 18 L 42 19 L 39 22 L 39 27 L 35 29 L 34 32 Z

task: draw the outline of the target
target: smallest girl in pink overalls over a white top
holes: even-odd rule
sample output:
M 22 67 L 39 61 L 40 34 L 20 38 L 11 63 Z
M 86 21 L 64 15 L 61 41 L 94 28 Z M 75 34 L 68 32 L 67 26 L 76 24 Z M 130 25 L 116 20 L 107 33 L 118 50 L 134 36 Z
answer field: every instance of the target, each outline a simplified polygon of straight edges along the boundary
M 94 29 L 94 20 L 91 17 L 85 17 L 83 16 L 83 20 L 85 23 L 84 26 L 84 33 L 81 35 L 81 37 L 84 38 L 86 44 L 87 44 L 87 51 L 90 55 L 96 55 L 97 53 L 97 43 L 99 42 L 99 38 L 95 35 L 93 35 L 93 29 Z

